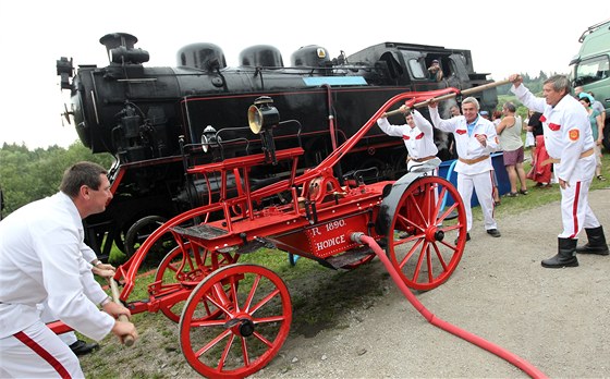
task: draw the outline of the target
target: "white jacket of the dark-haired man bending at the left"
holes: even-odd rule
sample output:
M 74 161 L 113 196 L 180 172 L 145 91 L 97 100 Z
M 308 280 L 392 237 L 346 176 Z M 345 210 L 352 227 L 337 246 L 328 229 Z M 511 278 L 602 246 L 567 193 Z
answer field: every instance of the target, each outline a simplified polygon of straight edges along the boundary
M 97 307 L 107 294 L 83 258 L 81 216 L 63 193 L 30 203 L 0 222 L 0 338 L 39 321 L 37 304 L 81 333 L 103 339 L 114 319 Z

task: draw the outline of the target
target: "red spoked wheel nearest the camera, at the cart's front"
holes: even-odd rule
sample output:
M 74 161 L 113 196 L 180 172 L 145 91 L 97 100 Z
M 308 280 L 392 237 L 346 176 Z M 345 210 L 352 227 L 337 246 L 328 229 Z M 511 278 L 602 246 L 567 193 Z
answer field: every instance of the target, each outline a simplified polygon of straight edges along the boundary
M 217 319 L 202 317 L 215 309 L 221 313 Z M 290 294 L 280 277 L 256 265 L 231 265 L 191 293 L 180 319 L 180 346 L 203 376 L 243 378 L 278 354 L 291 321 Z

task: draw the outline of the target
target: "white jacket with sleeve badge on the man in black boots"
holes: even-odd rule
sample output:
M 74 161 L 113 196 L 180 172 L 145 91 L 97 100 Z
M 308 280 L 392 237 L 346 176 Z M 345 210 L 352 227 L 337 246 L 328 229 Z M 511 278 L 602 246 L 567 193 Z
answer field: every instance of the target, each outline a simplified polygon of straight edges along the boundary
M 590 180 L 595 173 L 595 155 L 581 158 L 581 154 L 595 145 L 585 107 L 565 95 L 553 108 L 523 85 L 512 86 L 511 91 L 525 107 L 542 113 L 545 146 L 552 159 L 561 160 L 553 166 L 557 178 L 566 182 Z

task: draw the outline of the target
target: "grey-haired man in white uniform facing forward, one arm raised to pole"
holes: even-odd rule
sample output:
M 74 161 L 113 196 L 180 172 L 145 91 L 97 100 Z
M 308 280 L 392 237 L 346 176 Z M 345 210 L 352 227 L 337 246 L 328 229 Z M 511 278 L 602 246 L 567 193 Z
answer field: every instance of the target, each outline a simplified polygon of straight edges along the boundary
M 438 103 L 429 103 L 430 118 L 436 129 L 452 133 L 457 149 L 457 192 L 464 201 L 466 211 L 466 241 L 471 240 L 473 212 L 471 198 L 473 188 L 476 191 L 478 203 L 483 210 L 485 230 L 493 237 L 499 237 L 500 231 L 493 219 L 493 166 L 490 154 L 498 149 L 496 127 L 489 120 L 479 115 L 479 103 L 474 97 L 462 101 L 463 115 L 442 120 L 439 115 Z

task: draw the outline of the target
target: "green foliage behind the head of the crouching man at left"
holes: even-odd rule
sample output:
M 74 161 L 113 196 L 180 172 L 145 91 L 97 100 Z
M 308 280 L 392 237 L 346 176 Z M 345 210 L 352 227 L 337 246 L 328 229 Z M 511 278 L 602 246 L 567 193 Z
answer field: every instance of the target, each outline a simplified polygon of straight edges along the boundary
M 25 145 L 4 144 L 0 149 L 0 188 L 4 198 L 2 216 L 27 203 L 58 192 L 63 171 L 78 161 L 110 168 L 112 156 L 93 155 L 81 142 L 68 149 L 57 145 L 30 151 Z

